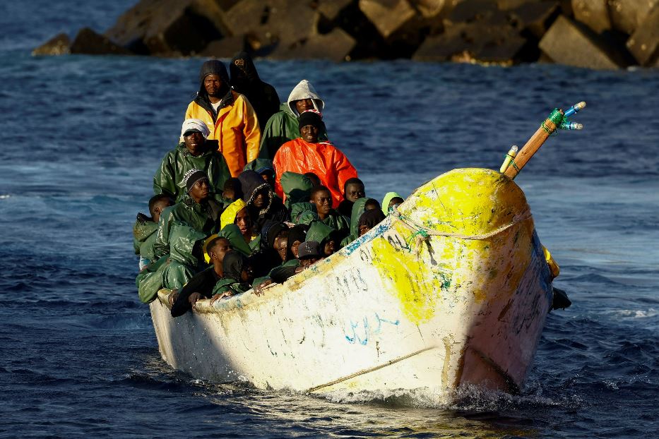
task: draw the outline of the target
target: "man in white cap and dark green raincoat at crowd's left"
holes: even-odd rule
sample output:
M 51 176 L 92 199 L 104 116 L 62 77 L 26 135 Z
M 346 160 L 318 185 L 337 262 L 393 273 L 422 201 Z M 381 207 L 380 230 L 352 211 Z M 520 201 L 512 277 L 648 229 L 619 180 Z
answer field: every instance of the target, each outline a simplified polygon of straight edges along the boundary
M 227 162 L 218 152 L 218 141 L 207 140 L 208 128 L 199 119 L 186 119 L 181 128 L 182 142 L 167 152 L 153 176 L 153 192 L 165 193 L 179 202 L 187 193 L 183 177 L 191 169 L 208 175 L 210 191 L 220 193 L 231 176 Z

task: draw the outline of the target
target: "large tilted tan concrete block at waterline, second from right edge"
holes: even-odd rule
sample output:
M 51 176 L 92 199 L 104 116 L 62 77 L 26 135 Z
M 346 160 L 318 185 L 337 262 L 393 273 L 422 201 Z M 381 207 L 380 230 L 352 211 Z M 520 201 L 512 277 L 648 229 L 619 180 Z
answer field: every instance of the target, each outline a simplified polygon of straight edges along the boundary
M 554 62 L 585 68 L 619 68 L 615 54 L 585 25 L 559 16 L 540 40 L 540 49 Z

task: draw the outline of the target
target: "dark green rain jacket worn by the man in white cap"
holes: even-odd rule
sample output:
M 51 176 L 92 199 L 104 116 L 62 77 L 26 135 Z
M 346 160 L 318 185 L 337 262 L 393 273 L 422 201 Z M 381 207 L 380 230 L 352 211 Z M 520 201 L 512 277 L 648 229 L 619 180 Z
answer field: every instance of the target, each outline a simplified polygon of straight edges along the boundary
M 183 176 L 191 169 L 206 172 L 210 192 L 222 193 L 231 172 L 222 153 L 218 152 L 218 141 L 206 140 L 206 143 L 210 143 L 208 150 L 197 157 L 191 155 L 183 142 L 167 152 L 160 163 L 160 169 L 153 176 L 153 193 L 166 193 L 179 202 L 187 192 Z

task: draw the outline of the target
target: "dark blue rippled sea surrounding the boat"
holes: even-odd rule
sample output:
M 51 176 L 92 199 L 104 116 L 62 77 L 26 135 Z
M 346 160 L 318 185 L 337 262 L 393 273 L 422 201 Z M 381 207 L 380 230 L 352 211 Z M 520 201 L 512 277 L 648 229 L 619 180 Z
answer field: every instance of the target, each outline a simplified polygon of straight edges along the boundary
M 554 107 L 516 181 L 573 306 L 547 318 L 522 395 L 311 397 L 218 385 L 162 361 L 138 301 L 131 227 L 179 136 L 201 59 L 61 56 L 133 0 L 0 6 L 0 436 L 3 438 L 649 438 L 659 428 L 659 71 L 410 61 L 258 61 L 302 78 L 367 195 L 499 168 Z

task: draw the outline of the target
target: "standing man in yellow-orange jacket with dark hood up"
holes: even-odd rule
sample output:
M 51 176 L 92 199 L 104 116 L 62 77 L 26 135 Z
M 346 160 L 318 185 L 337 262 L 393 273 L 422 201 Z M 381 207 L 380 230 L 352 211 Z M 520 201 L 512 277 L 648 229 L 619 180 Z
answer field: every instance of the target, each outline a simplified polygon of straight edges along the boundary
M 218 140 L 218 149 L 227 161 L 231 176 L 238 176 L 245 164 L 256 159 L 261 131 L 256 112 L 247 97 L 229 86 L 222 61 L 212 59 L 201 66 L 199 91 L 188 105 L 185 119 L 206 122 L 208 140 Z

